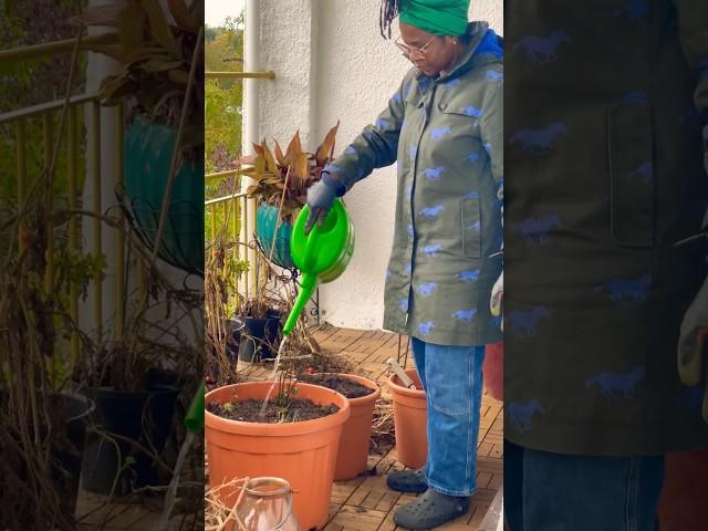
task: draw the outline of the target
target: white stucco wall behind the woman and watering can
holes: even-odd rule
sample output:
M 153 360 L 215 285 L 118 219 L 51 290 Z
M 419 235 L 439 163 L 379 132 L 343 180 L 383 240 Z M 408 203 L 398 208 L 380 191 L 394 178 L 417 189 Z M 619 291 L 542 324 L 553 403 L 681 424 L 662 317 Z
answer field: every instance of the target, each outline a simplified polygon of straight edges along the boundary
M 260 85 L 260 138 L 282 144 L 300 129 L 303 145 L 314 150 L 340 119 L 340 153 L 373 122 L 409 67 L 379 34 L 379 4 L 289 0 L 284 10 L 281 0 L 260 2 L 260 66 L 277 75 Z M 487 20 L 502 33 L 502 10 L 501 0 L 472 0 L 470 19 Z M 320 287 L 323 320 L 353 329 L 382 326 L 395 194 L 395 167 L 389 167 L 375 170 L 345 196 L 356 248 L 344 274 Z

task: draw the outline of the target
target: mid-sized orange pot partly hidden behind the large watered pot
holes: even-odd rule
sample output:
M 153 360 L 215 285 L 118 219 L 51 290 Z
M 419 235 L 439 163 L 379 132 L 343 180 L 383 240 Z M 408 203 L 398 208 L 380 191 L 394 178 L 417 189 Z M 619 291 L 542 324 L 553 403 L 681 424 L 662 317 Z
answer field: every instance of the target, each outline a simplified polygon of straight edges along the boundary
M 375 382 L 356 374 L 340 374 L 357 384 L 374 389 L 366 396 L 350 398 L 350 418 L 342 428 L 340 450 L 336 456 L 334 479 L 340 481 L 352 479 L 366 470 L 368 461 L 368 441 L 372 436 L 372 419 L 374 406 L 381 396 L 381 389 Z

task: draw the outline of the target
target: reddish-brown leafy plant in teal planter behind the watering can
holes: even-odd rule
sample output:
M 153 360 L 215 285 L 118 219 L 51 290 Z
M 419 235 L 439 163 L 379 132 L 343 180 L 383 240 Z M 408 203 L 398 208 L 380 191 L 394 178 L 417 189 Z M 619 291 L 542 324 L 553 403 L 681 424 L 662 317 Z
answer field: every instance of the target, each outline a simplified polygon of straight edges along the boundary
M 243 175 L 252 177 L 249 197 L 258 198 L 256 233 L 264 254 L 281 268 L 292 269 L 290 233 L 300 209 L 308 199 L 308 188 L 320 179 L 322 169 L 332 162 L 337 122 L 315 153 L 306 153 L 296 132 L 283 154 L 278 142 L 271 152 L 266 140 L 254 144 L 256 155 L 238 160 Z

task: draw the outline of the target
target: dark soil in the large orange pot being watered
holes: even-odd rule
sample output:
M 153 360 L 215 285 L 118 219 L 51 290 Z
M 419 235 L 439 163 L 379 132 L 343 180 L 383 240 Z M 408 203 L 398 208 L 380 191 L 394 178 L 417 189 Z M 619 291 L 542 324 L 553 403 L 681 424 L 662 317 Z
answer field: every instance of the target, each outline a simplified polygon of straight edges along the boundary
M 312 400 L 301 398 L 293 398 L 287 409 L 274 402 L 269 402 L 263 415 L 261 415 L 262 407 L 263 400 L 253 399 L 242 402 L 232 400 L 226 404 L 207 404 L 207 410 L 209 413 L 241 423 L 300 423 L 326 417 L 340 410 L 334 404 L 321 406 Z

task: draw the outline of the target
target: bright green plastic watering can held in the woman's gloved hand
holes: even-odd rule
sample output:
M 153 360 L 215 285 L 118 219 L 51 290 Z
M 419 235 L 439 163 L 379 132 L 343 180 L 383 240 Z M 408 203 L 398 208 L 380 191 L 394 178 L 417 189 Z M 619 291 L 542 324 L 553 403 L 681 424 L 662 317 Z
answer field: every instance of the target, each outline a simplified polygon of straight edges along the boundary
M 354 225 L 346 214 L 341 199 L 335 199 L 322 226 L 316 223 L 305 235 L 305 223 L 310 208 L 305 205 L 298 215 L 290 236 L 290 253 L 295 267 L 302 273 L 301 290 L 288 321 L 283 336 L 295 327 L 298 317 L 312 296 L 317 282 L 337 279 L 352 259 L 354 252 Z

